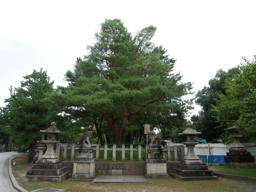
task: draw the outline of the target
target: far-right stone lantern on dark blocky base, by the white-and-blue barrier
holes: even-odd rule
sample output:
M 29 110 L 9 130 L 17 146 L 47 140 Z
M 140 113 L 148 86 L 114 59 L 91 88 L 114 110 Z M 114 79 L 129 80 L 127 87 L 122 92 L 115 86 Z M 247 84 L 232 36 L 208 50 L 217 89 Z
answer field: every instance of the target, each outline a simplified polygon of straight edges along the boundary
M 243 137 L 242 135 L 239 135 L 239 130 L 241 129 L 243 129 L 243 127 L 238 127 L 236 125 L 225 129 L 230 131 L 230 137 L 234 138 L 234 142 L 229 149 L 229 153 L 227 153 L 227 157 L 224 157 L 225 166 L 227 168 L 255 168 L 255 157 L 251 156 L 251 153 L 247 152 L 244 146 L 240 143 L 240 138 Z

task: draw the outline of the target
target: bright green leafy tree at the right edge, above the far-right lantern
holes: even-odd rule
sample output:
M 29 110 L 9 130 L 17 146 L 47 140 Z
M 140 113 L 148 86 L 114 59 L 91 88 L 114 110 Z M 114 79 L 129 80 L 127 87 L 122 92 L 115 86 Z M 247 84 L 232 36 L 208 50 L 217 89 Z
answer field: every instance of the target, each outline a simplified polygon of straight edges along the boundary
M 212 111 L 218 122 L 244 127 L 244 141 L 256 142 L 256 55 L 252 61 L 244 58 L 240 73 L 227 81 L 226 94 L 220 94 Z

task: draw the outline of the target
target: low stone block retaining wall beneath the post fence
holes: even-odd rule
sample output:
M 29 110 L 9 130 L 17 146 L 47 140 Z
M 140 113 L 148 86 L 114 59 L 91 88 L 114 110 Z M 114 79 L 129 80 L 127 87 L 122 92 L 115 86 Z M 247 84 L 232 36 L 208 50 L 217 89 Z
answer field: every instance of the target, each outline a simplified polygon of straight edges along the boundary
M 73 161 L 62 161 L 70 173 L 73 173 Z M 167 161 L 167 173 L 173 172 L 177 168 L 177 161 Z M 96 175 L 146 175 L 146 162 L 95 162 Z

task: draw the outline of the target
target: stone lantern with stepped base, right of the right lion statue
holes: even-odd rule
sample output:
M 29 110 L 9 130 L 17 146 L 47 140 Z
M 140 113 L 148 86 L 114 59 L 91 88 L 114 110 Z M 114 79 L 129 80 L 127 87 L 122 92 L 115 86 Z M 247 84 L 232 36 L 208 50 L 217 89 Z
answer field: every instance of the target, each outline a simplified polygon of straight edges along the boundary
M 180 181 L 195 181 L 195 180 L 215 180 L 216 176 L 213 176 L 213 171 L 208 170 L 207 165 L 203 165 L 203 162 L 196 156 L 194 147 L 198 144 L 195 142 L 194 136 L 201 134 L 192 129 L 191 124 L 187 124 L 187 128 L 179 133 L 179 135 L 185 135 L 187 141 L 183 144 L 187 147 L 187 154 L 181 160 L 180 164 L 177 164 L 177 168 L 173 168 L 173 173 L 170 175 Z

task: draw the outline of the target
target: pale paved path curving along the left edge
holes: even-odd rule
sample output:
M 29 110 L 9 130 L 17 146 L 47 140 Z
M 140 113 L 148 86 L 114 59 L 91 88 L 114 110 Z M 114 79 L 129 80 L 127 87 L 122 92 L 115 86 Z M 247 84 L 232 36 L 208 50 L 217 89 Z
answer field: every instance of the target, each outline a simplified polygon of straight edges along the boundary
M 0 153 L 0 192 L 18 192 L 12 186 L 8 171 L 9 158 L 16 154 L 14 151 Z

